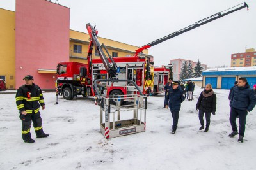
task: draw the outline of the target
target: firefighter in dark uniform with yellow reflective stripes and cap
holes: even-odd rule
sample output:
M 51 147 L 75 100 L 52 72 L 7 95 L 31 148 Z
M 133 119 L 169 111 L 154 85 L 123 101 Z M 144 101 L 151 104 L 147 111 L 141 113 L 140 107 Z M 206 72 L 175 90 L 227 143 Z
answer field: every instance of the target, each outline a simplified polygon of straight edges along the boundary
M 35 140 L 31 138 L 30 134 L 31 122 L 33 122 L 36 138 L 49 136 L 43 131 L 42 118 L 39 112 L 40 106 L 42 106 L 43 110 L 45 109 L 44 97 L 40 87 L 33 83 L 33 76 L 25 76 L 23 80 L 25 80 L 26 84 L 19 87 L 16 93 L 16 104 L 22 122 L 22 139 L 26 143 L 34 143 Z

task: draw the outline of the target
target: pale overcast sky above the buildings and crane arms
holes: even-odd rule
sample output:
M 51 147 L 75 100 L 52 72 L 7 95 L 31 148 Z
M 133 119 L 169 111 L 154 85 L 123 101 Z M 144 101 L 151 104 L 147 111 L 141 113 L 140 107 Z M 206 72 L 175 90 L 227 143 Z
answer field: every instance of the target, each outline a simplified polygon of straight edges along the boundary
M 52 0 L 56 1 L 56 0 Z M 70 8 L 70 29 L 86 32 L 86 23 L 97 25 L 99 36 L 143 46 L 198 20 L 244 1 L 234 0 L 58 0 Z M 228 65 L 232 53 L 256 48 L 256 1 L 246 8 L 202 25 L 149 48 L 155 66 L 170 59 L 188 59 L 208 67 Z M 0 8 L 15 11 L 15 0 L 1 0 Z

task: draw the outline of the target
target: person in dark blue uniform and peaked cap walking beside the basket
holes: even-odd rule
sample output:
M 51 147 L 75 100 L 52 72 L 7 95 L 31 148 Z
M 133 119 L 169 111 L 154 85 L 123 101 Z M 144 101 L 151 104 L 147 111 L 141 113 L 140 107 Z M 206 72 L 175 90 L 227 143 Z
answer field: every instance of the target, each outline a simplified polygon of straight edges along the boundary
M 169 89 L 169 108 L 172 113 L 173 125 L 172 125 L 172 134 L 175 134 L 178 120 L 179 120 L 179 112 L 181 103 L 185 100 L 183 95 L 183 91 L 178 88 L 179 82 L 173 81 L 172 82 L 172 89 Z

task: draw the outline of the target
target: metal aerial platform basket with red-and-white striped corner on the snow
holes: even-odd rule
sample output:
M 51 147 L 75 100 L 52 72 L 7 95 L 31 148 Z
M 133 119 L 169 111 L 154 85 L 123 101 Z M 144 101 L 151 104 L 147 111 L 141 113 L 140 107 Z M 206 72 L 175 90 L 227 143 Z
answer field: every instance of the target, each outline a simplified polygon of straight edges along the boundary
M 147 97 L 143 96 L 139 87 L 131 80 L 95 80 L 97 81 L 128 81 L 133 83 L 140 94 L 124 96 L 100 96 L 97 88 L 98 101 L 100 105 L 100 132 L 105 138 L 114 138 L 127 134 L 144 132 L 146 128 Z M 111 100 L 116 99 L 116 105 L 112 105 Z M 126 104 L 122 104 L 122 99 L 129 99 Z

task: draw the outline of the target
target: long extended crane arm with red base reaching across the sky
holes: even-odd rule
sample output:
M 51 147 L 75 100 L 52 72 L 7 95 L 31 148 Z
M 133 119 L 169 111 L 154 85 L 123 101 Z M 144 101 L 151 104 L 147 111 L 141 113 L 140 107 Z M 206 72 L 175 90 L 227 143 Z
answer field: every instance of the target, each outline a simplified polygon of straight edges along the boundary
M 241 6 L 243 4 L 243 6 Z M 208 22 L 211 22 L 213 20 L 216 20 L 218 18 L 224 17 L 225 15 L 228 15 L 230 13 L 234 13 L 235 11 L 241 10 L 243 8 L 248 8 L 248 4 L 241 3 L 238 4 L 237 6 L 234 6 L 232 8 L 228 8 L 225 11 L 221 11 L 219 13 L 216 13 L 214 15 L 211 15 L 210 17 L 204 18 L 198 22 L 195 22 L 195 24 L 189 25 L 188 27 L 185 27 L 184 29 L 180 29 L 179 31 L 173 32 L 172 34 L 169 34 L 168 36 L 164 36 L 163 38 L 157 39 L 156 41 L 153 41 L 151 43 L 148 43 L 147 45 L 142 46 L 138 50 L 136 50 L 136 53 L 134 54 L 134 57 L 137 57 L 139 53 L 143 52 L 143 50 L 150 48 L 151 46 L 157 45 L 159 43 L 162 43 L 163 41 L 166 41 L 168 39 L 171 39 L 175 36 L 179 36 L 180 34 L 183 34 L 184 32 L 190 31 L 191 29 L 195 29 L 197 27 L 200 27 L 201 25 L 207 24 Z

